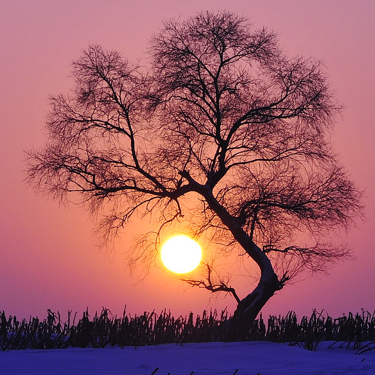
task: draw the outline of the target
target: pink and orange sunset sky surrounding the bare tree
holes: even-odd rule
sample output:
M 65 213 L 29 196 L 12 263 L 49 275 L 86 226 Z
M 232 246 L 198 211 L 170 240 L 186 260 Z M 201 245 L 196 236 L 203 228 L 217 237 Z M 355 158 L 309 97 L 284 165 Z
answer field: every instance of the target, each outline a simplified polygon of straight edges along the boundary
M 201 10 L 229 10 L 279 34 L 289 56 L 325 61 L 336 98 L 345 106 L 333 134 L 335 151 L 365 191 L 366 220 L 346 240 L 355 259 L 328 275 L 306 277 L 273 296 L 265 315 L 331 316 L 375 310 L 375 3 L 372 0 L 0 0 L 0 311 L 45 316 L 47 309 L 140 314 L 228 307 L 230 296 L 192 289 L 164 268 L 140 281 L 129 275 L 123 253 L 139 223 L 127 227 L 114 256 L 96 246 L 93 220 L 81 207 L 62 207 L 24 182 L 24 150 L 45 143 L 49 94 L 73 85 L 71 62 L 89 44 L 145 58 L 162 21 Z M 244 297 L 250 286 L 232 285 Z

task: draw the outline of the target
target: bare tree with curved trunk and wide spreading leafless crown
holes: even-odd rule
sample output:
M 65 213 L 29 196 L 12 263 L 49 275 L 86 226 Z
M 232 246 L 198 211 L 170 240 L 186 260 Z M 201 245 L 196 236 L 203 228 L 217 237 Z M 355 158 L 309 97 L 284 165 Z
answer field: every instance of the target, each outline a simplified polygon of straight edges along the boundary
M 158 213 L 151 242 L 187 220 L 196 237 L 245 254 L 260 277 L 242 299 L 209 262 L 205 278 L 186 281 L 231 293 L 235 314 L 254 319 L 293 276 L 350 254 L 327 242 L 362 209 L 329 139 L 340 106 L 321 62 L 287 58 L 273 32 L 228 12 L 167 21 L 148 52 L 142 67 L 100 46 L 83 51 L 71 95 L 50 98 L 49 139 L 28 153 L 29 179 L 102 208 L 106 240 L 135 213 Z M 148 264 L 145 243 L 132 258 Z

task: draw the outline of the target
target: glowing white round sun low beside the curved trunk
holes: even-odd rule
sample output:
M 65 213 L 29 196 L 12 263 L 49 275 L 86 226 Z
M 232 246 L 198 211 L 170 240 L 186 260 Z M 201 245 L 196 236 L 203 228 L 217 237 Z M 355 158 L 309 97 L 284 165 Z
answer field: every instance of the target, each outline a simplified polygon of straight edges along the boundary
M 181 234 L 167 240 L 162 247 L 161 257 L 169 271 L 187 273 L 199 265 L 202 250 L 196 241 Z

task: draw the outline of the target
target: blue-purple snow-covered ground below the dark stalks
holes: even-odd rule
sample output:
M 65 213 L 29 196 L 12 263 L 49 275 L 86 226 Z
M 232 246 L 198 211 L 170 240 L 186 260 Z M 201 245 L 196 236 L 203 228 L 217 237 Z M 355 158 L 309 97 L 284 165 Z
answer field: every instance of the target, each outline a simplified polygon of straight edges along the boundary
M 375 351 L 316 352 L 271 342 L 166 344 L 0 352 L 1 375 L 324 375 L 375 374 Z

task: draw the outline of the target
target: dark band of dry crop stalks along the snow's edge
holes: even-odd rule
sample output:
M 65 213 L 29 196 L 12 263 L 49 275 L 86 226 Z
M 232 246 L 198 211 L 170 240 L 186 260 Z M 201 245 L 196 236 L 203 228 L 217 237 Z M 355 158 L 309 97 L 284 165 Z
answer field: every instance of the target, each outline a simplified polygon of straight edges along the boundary
M 262 315 L 249 323 L 234 320 L 225 310 L 204 311 L 202 316 L 190 312 L 188 316 L 174 318 L 164 310 L 133 317 L 124 314 L 113 316 L 108 309 L 90 318 L 88 311 L 76 323 L 77 313 L 68 312 L 67 322 L 61 315 L 48 310 L 46 319 L 30 317 L 19 321 L 16 316 L 0 313 L 0 348 L 14 349 L 63 349 L 67 347 L 104 348 L 157 345 L 166 343 L 209 341 L 273 341 L 301 345 L 314 350 L 320 341 L 340 342 L 359 353 L 374 350 L 375 312 L 352 314 L 333 319 L 323 312 L 313 311 L 311 317 L 303 316 L 298 322 L 294 312 L 285 317 L 270 316 L 265 324 Z M 240 329 L 238 329 L 240 328 Z

